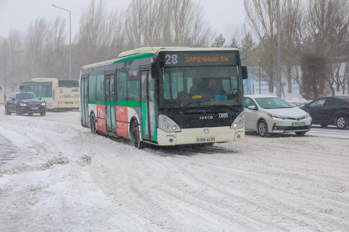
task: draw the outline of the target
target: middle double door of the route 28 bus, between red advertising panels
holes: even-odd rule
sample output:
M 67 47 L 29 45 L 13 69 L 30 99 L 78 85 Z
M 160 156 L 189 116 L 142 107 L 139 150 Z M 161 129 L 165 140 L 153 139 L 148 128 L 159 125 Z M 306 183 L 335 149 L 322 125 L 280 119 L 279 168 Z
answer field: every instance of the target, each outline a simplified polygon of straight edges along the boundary
M 115 97 L 114 97 L 114 76 L 105 74 L 105 115 L 108 132 L 116 132 L 115 121 Z

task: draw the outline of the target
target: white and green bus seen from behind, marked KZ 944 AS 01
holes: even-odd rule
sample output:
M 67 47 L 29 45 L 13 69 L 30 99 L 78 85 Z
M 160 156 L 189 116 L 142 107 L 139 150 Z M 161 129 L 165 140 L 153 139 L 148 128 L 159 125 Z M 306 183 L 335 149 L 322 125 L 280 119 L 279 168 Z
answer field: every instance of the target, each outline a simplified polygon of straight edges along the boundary
M 34 78 L 23 81 L 22 92 L 33 92 L 46 102 L 49 110 L 79 109 L 79 80 L 58 80 L 56 78 Z

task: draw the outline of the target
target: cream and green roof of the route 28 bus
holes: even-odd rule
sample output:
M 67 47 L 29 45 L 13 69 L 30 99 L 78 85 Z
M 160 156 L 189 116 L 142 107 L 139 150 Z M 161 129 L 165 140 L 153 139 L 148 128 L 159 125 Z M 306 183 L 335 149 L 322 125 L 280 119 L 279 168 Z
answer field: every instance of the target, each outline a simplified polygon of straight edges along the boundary
M 108 64 L 115 64 L 125 61 L 132 61 L 134 59 L 141 59 L 146 57 L 156 56 L 159 51 L 227 51 L 238 50 L 236 48 L 190 48 L 190 47 L 144 47 L 137 48 L 130 51 L 124 51 L 118 55 L 117 59 L 111 59 L 109 61 L 103 61 L 95 64 L 85 65 L 81 67 L 81 70 L 90 69 L 93 67 L 99 67 Z

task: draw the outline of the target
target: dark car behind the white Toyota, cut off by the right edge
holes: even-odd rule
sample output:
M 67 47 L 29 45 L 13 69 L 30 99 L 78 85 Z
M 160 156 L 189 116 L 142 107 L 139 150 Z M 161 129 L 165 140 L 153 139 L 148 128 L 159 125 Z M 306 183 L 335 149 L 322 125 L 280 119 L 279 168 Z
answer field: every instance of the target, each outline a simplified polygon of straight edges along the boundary
M 322 97 L 299 108 L 310 114 L 313 124 L 333 125 L 339 129 L 348 127 L 349 97 Z

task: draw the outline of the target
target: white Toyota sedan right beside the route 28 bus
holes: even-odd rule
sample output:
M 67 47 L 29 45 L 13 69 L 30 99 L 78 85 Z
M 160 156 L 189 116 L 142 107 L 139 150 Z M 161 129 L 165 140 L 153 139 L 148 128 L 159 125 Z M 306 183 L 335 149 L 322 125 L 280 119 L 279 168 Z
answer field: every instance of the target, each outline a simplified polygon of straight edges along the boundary
M 310 115 L 280 97 L 273 95 L 245 95 L 245 129 L 254 130 L 261 137 L 271 133 L 295 132 L 305 135 L 311 130 Z

